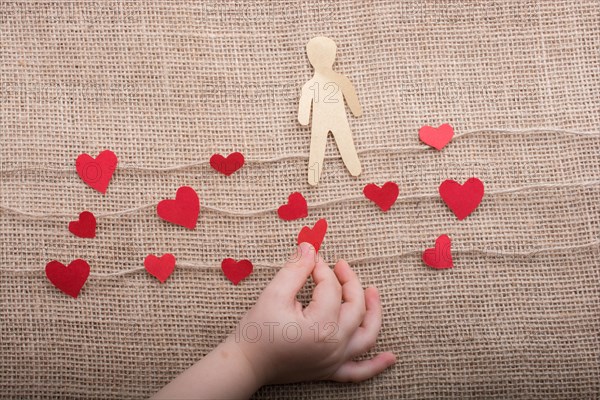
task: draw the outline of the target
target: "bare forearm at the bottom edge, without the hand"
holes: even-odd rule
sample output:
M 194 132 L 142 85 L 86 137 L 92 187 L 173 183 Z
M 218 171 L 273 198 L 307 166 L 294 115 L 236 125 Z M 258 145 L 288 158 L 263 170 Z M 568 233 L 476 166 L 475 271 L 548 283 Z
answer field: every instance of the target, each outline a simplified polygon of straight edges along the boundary
M 152 399 L 243 399 L 249 398 L 260 386 L 239 347 L 227 340 Z

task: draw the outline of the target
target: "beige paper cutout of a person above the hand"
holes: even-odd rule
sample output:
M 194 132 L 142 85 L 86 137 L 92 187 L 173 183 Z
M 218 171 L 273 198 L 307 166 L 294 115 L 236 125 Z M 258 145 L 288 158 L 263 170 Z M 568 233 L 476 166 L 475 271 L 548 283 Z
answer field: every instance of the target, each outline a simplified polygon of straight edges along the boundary
M 327 135 L 333 134 L 342 160 L 353 176 L 361 173 L 360 161 L 354 148 L 352 132 L 346 117 L 344 98 L 352 114 L 362 115 L 356 90 L 348 78 L 331 68 L 335 61 L 335 42 L 326 37 L 311 39 L 306 45 L 308 60 L 315 75 L 302 87 L 298 122 L 308 125 L 312 106 L 310 156 L 308 159 L 308 183 L 316 185 L 323 170 Z

